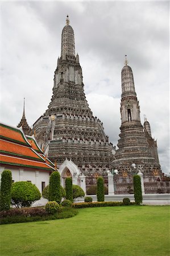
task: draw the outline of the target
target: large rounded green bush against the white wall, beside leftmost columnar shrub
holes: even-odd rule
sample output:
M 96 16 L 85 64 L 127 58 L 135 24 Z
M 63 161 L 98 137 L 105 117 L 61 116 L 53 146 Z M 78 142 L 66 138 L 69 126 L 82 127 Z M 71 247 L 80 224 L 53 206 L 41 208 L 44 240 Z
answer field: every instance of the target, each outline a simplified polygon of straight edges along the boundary
M 28 181 L 18 181 L 13 183 L 11 190 L 12 204 L 15 207 L 30 207 L 32 203 L 41 198 L 41 194 L 36 185 Z

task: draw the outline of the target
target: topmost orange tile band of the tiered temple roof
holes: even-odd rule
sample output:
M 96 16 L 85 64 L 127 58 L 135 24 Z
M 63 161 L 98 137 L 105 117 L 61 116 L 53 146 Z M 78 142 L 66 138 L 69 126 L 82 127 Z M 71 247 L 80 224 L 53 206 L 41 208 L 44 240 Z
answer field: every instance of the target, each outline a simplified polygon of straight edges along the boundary
M 30 146 L 30 144 L 28 143 L 26 137 L 24 136 L 21 130 L 17 128 L 13 128 L 8 125 L 3 125 L 2 123 L 0 124 L 0 129 L 1 129 L 0 138 Z

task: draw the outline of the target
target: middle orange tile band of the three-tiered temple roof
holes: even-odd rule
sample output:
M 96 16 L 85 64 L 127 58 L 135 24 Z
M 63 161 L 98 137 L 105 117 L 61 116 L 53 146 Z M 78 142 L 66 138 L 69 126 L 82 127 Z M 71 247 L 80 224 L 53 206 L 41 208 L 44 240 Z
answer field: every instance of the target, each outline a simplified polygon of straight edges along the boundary
M 19 156 L 26 159 L 45 162 L 32 148 L 20 144 L 0 140 L 0 152 L 5 155 Z

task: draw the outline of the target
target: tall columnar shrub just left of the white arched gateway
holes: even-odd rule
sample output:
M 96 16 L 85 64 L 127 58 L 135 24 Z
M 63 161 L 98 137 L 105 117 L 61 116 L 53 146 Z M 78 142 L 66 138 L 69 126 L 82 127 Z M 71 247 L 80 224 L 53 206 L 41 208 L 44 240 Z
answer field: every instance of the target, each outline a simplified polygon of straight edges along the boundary
M 61 203 L 60 174 L 57 171 L 52 172 L 49 177 L 49 201 Z

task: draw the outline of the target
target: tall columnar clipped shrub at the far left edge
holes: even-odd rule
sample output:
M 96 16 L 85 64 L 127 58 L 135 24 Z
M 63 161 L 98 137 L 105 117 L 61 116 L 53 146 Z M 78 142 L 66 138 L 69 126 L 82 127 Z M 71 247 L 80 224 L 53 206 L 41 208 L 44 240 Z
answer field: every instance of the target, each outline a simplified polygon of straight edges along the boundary
M 1 207 L 0 210 L 8 210 L 11 206 L 12 174 L 10 170 L 4 170 L 1 175 Z

